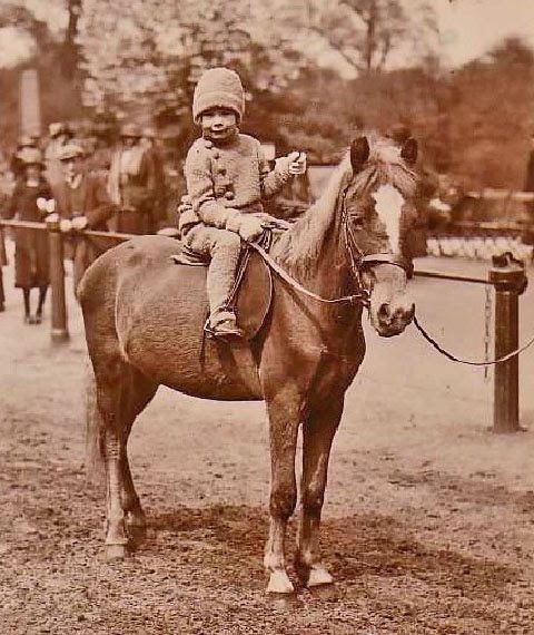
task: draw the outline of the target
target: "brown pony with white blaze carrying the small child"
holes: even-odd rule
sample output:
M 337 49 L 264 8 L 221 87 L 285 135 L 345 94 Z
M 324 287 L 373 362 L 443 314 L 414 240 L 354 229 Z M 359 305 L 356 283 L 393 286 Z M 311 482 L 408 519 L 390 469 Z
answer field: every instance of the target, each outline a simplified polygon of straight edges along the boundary
M 345 391 L 365 354 L 363 305 L 384 336 L 400 333 L 414 314 L 399 226 L 413 211 L 416 155 L 413 139 L 402 149 L 385 140 L 370 148 L 366 137 L 353 141 L 323 196 L 274 244 L 271 257 L 290 277 L 273 274 L 269 312 L 248 343 L 204 340 L 206 270 L 174 264 L 172 238 L 135 238 L 88 268 L 79 300 L 97 388 L 92 433 L 106 467 L 109 558 L 123 557 L 129 538 L 145 527 L 127 441 L 136 417 L 165 384 L 204 399 L 265 400 L 271 481 L 264 564 L 267 590 L 275 594 L 294 592 L 284 544 L 297 502 L 301 427 L 296 570 L 308 587 L 333 583 L 318 549 L 319 522 Z M 248 276 L 260 267 L 256 255 Z M 303 287 L 339 301 L 322 301 Z

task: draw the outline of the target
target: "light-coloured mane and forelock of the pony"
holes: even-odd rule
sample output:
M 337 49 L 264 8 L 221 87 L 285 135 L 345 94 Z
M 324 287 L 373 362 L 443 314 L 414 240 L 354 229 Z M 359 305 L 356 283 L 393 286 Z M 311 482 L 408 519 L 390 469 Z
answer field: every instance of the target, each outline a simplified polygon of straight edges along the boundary
M 396 187 L 405 198 L 411 198 L 415 194 L 416 174 L 402 158 L 398 147 L 386 139 L 375 139 L 364 169 L 356 175 L 353 175 L 350 156 L 347 152 L 322 196 L 278 240 L 273 248 L 275 258 L 300 275 L 313 272 L 326 234 L 336 217 L 339 194 L 345 187 L 350 184 L 354 195 L 359 197 L 365 192 L 387 183 Z

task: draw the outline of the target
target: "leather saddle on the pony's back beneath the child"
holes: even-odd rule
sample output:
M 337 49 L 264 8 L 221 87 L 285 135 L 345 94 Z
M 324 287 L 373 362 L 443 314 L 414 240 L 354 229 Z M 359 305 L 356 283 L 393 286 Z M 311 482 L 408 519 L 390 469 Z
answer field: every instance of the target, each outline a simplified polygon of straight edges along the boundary
M 209 265 L 209 258 L 191 251 L 177 241 L 177 253 L 171 256 L 179 266 Z M 237 265 L 236 282 L 228 305 L 237 316 L 237 324 L 247 340 L 255 338 L 269 313 L 273 300 L 273 277 L 264 258 L 250 246 L 241 251 Z M 206 307 L 206 315 L 209 313 Z

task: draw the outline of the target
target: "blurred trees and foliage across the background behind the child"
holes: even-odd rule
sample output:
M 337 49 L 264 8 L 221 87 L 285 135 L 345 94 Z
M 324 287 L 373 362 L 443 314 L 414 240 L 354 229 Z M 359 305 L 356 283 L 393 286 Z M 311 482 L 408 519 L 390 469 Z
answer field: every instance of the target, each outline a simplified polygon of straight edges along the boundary
M 359 130 L 407 125 L 434 169 L 467 187 L 520 188 L 534 128 L 534 53 L 508 38 L 453 70 L 429 4 L 411 0 L 0 0 L 0 35 L 32 46 L 0 65 L 0 135 L 20 134 L 20 70 L 37 68 L 43 123 L 155 125 L 180 159 L 205 68 L 247 88 L 243 131 L 333 163 Z M 409 59 L 409 66 L 398 60 Z

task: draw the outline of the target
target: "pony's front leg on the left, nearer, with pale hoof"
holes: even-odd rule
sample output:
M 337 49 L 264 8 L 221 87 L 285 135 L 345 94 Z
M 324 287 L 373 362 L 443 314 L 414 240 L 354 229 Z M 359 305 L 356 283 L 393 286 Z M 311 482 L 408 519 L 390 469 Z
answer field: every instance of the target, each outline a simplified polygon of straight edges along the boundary
M 264 565 L 269 576 L 267 593 L 293 594 L 295 588 L 287 575 L 285 539 L 287 521 L 297 504 L 295 453 L 301 399 L 291 387 L 284 387 L 267 400 L 270 437 L 269 537 Z

